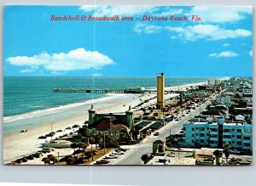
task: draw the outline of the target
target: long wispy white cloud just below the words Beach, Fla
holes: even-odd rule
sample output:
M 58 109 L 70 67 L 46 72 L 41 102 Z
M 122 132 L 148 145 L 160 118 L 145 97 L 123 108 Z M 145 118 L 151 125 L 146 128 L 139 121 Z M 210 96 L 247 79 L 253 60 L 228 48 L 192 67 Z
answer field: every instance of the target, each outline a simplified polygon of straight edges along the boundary
M 166 26 L 166 30 L 177 32 L 177 37 L 183 40 L 195 41 L 198 39 L 220 40 L 237 37 L 249 37 L 251 31 L 236 29 L 228 30 L 218 25 L 189 25 L 187 27 Z

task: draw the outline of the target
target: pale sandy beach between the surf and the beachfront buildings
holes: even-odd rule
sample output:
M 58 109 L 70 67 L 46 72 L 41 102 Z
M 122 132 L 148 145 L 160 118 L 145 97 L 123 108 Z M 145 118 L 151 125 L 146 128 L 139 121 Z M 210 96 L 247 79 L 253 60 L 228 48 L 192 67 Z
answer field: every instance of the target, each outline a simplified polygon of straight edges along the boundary
M 188 85 L 179 86 L 180 89 L 198 86 L 206 84 L 207 82 L 200 83 L 192 83 Z M 174 89 L 177 90 L 176 87 L 166 87 L 166 90 Z M 177 95 L 177 94 L 176 94 Z M 176 96 L 172 95 L 172 96 Z M 120 96 L 120 95 L 119 95 Z M 168 97 L 171 95 L 168 95 Z M 140 104 L 142 100 L 150 99 L 155 97 L 155 94 L 143 94 L 140 97 L 130 97 L 129 100 L 119 101 L 118 104 L 113 103 L 112 105 L 104 106 L 104 103 L 101 103 L 102 107 L 96 109 L 97 113 L 109 113 L 109 112 L 125 112 L 125 110 L 129 110 L 129 107 L 134 107 L 137 104 Z M 167 99 L 167 98 L 166 98 Z M 88 112 L 84 110 L 84 114 L 79 114 L 77 116 L 68 117 L 67 119 L 49 122 L 47 124 L 41 125 L 39 127 L 32 127 L 27 130 L 27 132 L 12 132 L 3 136 L 3 163 L 7 164 L 11 161 L 15 161 L 16 159 L 31 155 L 32 153 L 40 150 L 42 148 L 42 144 L 50 138 L 46 139 L 38 139 L 39 136 L 44 136 L 45 134 L 52 131 L 62 130 L 64 132 L 70 132 L 65 130 L 66 127 L 73 127 L 73 125 L 82 126 L 84 121 L 88 119 Z M 71 129 L 73 130 L 73 129 Z M 61 133 L 63 134 L 63 132 Z

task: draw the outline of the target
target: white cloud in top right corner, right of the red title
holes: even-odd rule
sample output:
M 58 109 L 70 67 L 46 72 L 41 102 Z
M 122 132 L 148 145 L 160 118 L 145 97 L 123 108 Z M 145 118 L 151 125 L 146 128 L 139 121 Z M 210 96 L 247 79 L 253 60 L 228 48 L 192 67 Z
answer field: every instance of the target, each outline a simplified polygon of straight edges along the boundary
M 252 7 L 193 7 L 189 16 L 198 15 L 208 23 L 233 22 L 245 19 L 247 14 L 253 14 Z

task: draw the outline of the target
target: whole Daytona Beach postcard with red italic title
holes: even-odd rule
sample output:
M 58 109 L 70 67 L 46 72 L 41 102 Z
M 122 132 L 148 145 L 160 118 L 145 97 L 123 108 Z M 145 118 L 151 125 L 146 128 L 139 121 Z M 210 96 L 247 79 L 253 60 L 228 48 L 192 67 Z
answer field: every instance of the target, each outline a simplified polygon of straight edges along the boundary
M 3 14 L 3 164 L 253 164 L 253 8 Z

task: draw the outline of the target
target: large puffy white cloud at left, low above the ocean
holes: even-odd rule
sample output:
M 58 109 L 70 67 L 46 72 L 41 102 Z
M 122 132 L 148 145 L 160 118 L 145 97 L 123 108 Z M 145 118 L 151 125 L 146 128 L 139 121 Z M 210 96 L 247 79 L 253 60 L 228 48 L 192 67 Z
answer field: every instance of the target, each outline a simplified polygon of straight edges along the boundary
M 11 65 L 29 66 L 32 69 L 44 67 L 50 71 L 66 70 L 87 70 L 92 67 L 101 69 L 105 65 L 113 65 L 113 59 L 98 51 L 86 51 L 84 48 L 77 48 L 68 53 L 48 54 L 43 52 L 39 55 L 16 56 L 7 59 Z

